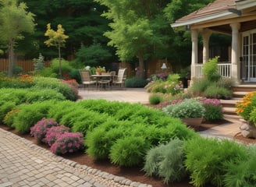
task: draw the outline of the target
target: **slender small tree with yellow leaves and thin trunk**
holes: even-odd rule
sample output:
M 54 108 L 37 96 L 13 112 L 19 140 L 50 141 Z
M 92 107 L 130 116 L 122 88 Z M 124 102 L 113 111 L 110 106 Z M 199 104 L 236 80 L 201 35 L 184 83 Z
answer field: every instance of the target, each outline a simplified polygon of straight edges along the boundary
M 44 36 L 49 37 L 47 41 L 44 41 L 44 44 L 49 46 L 56 46 L 59 50 L 59 77 L 62 78 L 62 63 L 61 63 L 61 54 L 60 54 L 60 48 L 65 47 L 66 39 L 69 37 L 64 34 L 64 29 L 62 28 L 62 25 L 58 25 L 57 31 L 52 30 L 51 23 L 47 24 L 47 30 L 44 34 Z

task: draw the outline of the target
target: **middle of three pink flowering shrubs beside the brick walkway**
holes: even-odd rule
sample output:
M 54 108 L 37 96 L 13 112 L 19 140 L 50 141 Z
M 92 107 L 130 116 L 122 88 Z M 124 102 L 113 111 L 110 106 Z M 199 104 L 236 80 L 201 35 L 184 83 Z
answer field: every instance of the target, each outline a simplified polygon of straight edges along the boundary
M 52 128 L 48 129 L 48 132 L 46 132 L 45 138 L 42 141 L 47 143 L 48 146 L 52 146 L 52 144 L 55 143 L 55 141 L 59 139 L 59 137 L 65 132 L 69 132 L 68 127 L 64 125 L 53 126 Z

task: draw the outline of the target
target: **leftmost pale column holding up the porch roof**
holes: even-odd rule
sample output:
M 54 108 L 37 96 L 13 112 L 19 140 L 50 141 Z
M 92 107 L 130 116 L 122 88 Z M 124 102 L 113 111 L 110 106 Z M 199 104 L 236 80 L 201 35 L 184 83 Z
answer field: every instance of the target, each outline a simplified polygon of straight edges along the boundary
M 198 63 L 198 31 L 191 30 L 192 54 L 191 54 L 191 78 L 196 76 L 195 64 Z

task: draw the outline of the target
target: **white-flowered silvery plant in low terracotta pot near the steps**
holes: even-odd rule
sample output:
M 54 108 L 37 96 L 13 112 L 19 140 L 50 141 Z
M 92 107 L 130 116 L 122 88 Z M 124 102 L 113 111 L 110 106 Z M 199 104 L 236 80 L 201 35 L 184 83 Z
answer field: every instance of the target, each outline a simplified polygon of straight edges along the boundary
M 170 104 L 163 108 L 163 111 L 173 118 L 180 118 L 183 123 L 191 126 L 200 126 L 205 114 L 203 104 L 196 98 Z

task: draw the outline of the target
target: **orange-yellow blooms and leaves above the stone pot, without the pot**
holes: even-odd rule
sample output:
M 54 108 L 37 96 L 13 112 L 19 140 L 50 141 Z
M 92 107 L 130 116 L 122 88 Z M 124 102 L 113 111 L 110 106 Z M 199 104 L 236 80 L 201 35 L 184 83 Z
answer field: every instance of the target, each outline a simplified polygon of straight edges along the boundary
M 246 94 L 243 100 L 236 103 L 236 114 L 245 120 L 250 119 L 251 111 L 256 107 L 256 91 Z

